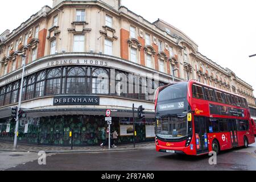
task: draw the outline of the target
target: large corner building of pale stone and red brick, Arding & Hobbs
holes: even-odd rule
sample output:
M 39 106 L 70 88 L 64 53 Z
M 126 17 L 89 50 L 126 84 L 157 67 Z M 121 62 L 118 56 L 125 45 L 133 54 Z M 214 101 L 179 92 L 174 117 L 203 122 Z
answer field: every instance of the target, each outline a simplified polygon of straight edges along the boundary
M 256 108 L 251 85 L 202 55 L 197 44 L 182 31 L 161 19 L 148 22 L 121 6 L 120 0 L 53 0 L 52 8 L 44 6 L 13 32 L 6 30 L 0 35 L 0 61 L 1 117 L 7 118 L 6 109 L 17 105 L 24 61 L 22 108 L 28 113 L 31 132 L 42 130 L 41 134 L 33 135 L 36 136 L 34 143 L 39 144 L 65 144 L 69 141 L 64 139 L 65 132 L 59 134 L 57 131 L 68 131 L 68 123 L 77 127 L 80 137 L 77 144 L 98 144 L 102 139 L 99 132 L 105 127 L 102 121 L 105 110 L 113 110 L 114 125 L 119 130 L 125 126 L 129 128 L 133 123 L 133 103 L 135 107 L 143 104 L 146 108 L 146 119 L 138 126 L 141 130 L 138 140 L 152 139 L 154 103 L 149 93 L 110 92 L 112 84 L 123 81 L 118 79 L 119 75 L 130 73 L 143 76 L 157 73 L 160 85 L 196 79 L 240 94 L 246 97 L 252 109 Z M 116 73 L 114 82 L 110 79 L 111 69 Z M 95 77 L 102 74 L 109 79 L 101 81 L 99 88 Z M 139 88 L 147 88 L 147 85 L 139 82 Z M 63 101 L 60 98 L 63 96 L 69 99 L 82 96 L 77 99 L 97 99 L 99 103 L 56 105 L 55 100 Z M 68 115 L 69 120 L 66 121 L 63 115 Z M 42 120 L 51 127 L 47 129 L 48 125 L 36 124 Z M 24 125 L 27 122 L 24 119 Z M 67 126 L 55 126 L 58 122 L 66 122 Z M 95 123 L 98 124 L 94 126 Z M 97 133 L 88 130 L 97 130 Z M 81 139 L 94 135 L 97 139 Z M 20 140 L 27 141 L 29 137 L 26 136 L 24 134 Z M 127 136 L 129 134 L 124 134 L 119 142 L 129 142 L 131 139 L 125 138 Z

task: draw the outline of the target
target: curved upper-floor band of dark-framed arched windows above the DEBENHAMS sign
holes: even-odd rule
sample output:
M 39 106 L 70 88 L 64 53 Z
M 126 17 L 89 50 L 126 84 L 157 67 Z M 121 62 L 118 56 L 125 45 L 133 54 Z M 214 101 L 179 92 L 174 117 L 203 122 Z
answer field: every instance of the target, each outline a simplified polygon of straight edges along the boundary
M 22 101 L 65 94 L 107 95 L 153 101 L 158 86 L 166 85 L 148 78 L 116 70 L 92 66 L 63 66 L 44 69 L 24 77 Z M 132 81 L 132 82 L 130 82 Z M 114 92 L 110 86 L 115 84 Z M 0 87 L 0 107 L 18 102 L 20 80 Z M 133 88 L 130 93 L 129 88 Z

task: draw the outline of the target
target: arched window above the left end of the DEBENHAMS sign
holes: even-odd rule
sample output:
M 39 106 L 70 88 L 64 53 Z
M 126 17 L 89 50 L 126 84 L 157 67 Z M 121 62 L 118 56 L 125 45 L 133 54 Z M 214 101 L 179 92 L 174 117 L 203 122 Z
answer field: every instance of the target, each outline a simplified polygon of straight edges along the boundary
M 46 96 L 60 94 L 60 69 L 52 69 L 48 72 L 46 80 Z

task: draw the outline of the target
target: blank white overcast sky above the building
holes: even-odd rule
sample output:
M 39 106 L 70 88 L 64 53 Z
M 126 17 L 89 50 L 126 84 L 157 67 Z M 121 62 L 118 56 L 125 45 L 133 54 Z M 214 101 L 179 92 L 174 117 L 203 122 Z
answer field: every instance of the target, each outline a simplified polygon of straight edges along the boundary
M 52 0 L 2 1 L 0 33 L 12 31 L 44 5 L 52 7 Z M 255 0 L 122 0 L 122 5 L 150 22 L 160 18 L 179 28 L 199 52 L 256 89 L 256 57 L 249 58 L 256 53 Z

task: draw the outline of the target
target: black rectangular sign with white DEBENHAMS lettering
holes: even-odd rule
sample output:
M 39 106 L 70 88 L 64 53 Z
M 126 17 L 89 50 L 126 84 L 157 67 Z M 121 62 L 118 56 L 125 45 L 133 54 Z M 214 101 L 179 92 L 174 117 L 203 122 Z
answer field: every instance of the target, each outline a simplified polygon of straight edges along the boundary
M 54 97 L 53 105 L 100 105 L 100 97 L 94 96 L 66 96 Z

